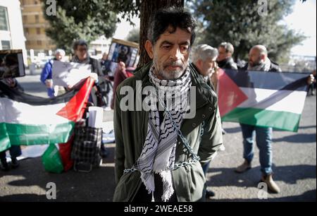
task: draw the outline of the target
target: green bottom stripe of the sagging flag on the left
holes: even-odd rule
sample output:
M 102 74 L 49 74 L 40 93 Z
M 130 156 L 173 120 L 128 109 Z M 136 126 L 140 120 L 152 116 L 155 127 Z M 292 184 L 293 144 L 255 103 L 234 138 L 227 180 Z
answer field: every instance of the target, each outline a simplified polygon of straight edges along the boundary
M 0 151 L 11 145 L 66 143 L 73 133 L 75 122 L 63 124 L 8 124 L 0 123 Z M 10 145 L 11 144 L 11 145 Z

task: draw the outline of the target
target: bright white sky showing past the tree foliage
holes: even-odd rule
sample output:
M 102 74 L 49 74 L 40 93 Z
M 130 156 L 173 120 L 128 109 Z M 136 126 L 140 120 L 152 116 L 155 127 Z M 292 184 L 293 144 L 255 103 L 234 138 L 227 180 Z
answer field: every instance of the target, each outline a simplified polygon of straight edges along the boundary
M 139 18 L 133 18 L 136 27 L 139 27 Z M 296 0 L 293 12 L 285 18 L 288 28 L 302 32 L 307 38 L 302 44 L 292 48 L 291 54 L 301 56 L 316 56 L 316 0 L 306 0 L 304 3 Z M 117 25 L 114 38 L 123 39 L 128 36 L 133 27 L 126 21 Z

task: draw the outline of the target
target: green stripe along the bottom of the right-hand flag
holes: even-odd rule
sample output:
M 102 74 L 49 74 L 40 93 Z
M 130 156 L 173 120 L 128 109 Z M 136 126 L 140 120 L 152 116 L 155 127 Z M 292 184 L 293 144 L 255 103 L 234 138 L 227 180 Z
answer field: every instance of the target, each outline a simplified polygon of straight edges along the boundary
M 255 108 L 235 108 L 222 117 L 223 121 L 235 121 L 254 126 L 268 126 L 297 132 L 301 114 Z

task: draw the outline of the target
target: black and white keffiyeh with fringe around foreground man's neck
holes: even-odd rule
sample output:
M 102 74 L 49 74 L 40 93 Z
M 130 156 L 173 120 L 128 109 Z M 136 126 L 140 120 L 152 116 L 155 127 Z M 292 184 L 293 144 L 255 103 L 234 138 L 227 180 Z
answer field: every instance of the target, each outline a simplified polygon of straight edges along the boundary
M 187 97 L 192 84 L 189 67 L 177 80 L 160 80 L 154 74 L 154 66 L 151 66 L 149 78 L 151 83 L 159 92 L 159 97 L 175 124 L 180 128 L 183 116 L 187 111 Z M 153 97 L 154 95 L 150 95 Z M 156 101 L 156 100 L 154 100 Z M 155 106 L 156 107 L 156 106 Z M 178 138 L 178 131 L 170 121 L 169 115 L 164 112 L 163 121 L 160 125 L 158 109 L 151 109 L 147 138 L 144 142 L 142 153 L 139 156 L 134 168 L 141 172 L 141 179 L 149 193 L 154 192 L 154 173 L 159 174 L 163 181 L 162 200 L 169 200 L 173 195 L 173 181 L 170 169 L 175 162 L 175 148 Z

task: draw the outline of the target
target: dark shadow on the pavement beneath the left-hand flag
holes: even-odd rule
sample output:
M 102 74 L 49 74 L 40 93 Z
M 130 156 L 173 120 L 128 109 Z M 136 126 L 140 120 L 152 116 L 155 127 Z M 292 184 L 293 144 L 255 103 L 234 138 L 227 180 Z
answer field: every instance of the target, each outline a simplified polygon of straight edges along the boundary
M 109 150 L 108 158 L 104 161 L 113 162 L 113 149 Z M 105 164 L 104 164 L 105 165 Z M 0 172 L 0 179 L 5 175 L 13 176 L 6 184 L 6 190 L 12 195 L 1 196 L 1 201 L 93 201 L 111 202 L 114 189 L 114 167 L 106 164 L 94 168 L 92 172 L 75 172 L 73 169 L 61 174 L 45 172 L 42 165 L 42 158 L 36 157 L 20 161 L 18 169 L 11 169 L 10 172 Z M 46 184 L 56 184 L 56 200 L 46 198 Z M 12 187 L 13 186 L 13 187 Z M 35 194 L 25 193 L 25 187 L 39 187 Z M 19 190 L 19 187 L 20 190 Z M 34 190 L 32 190 L 34 191 Z

